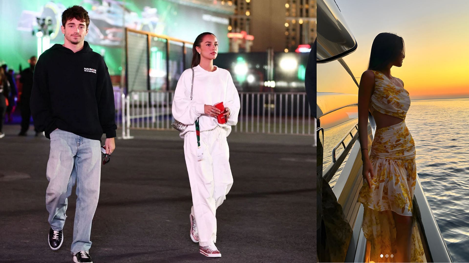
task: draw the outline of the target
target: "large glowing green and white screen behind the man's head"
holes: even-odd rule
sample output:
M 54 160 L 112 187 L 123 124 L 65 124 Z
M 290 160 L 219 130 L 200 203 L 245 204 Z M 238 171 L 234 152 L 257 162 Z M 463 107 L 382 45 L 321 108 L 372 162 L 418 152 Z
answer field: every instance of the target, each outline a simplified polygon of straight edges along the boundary
M 191 6 L 189 0 L 15 0 L 0 1 L 2 19 L 2 37 L 0 38 L 0 62 L 10 68 L 19 69 L 19 65 L 28 66 L 27 60 L 32 55 L 41 53 L 53 44 L 63 44 L 61 33 L 61 14 L 70 6 L 81 5 L 90 15 L 90 26 L 85 41 L 93 51 L 104 56 L 111 75 L 121 74 L 121 56 L 123 45 L 122 25 L 126 27 L 154 32 L 160 35 L 193 42 L 198 34 L 212 32 L 219 39 L 219 52 L 228 51 L 228 16 L 226 11 L 217 7 L 202 8 Z M 125 21 L 123 19 L 123 15 Z M 37 18 L 51 21 L 45 30 L 49 37 L 39 38 Z M 47 24 L 47 22 L 46 22 Z M 152 56 L 161 56 L 152 52 Z M 160 65 L 151 68 L 160 69 Z M 159 71 L 156 71 L 158 74 Z

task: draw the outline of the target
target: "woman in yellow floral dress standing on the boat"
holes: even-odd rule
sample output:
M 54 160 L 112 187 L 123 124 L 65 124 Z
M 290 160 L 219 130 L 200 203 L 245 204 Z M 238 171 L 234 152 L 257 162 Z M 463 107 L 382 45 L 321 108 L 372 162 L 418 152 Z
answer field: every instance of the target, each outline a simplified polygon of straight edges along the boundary
M 371 243 L 369 262 L 423 262 L 412 200 L 417 180 L 415 145 L 405 124 L 410 98 L 402 80 L 391 76 L 402 66 L 402 37 L 380 33 L 358 91 L 358 134 L 363 178 L 358 201 L 364 206 L 363 232 Z M 368 112 L 376 132 L 368 149 Z

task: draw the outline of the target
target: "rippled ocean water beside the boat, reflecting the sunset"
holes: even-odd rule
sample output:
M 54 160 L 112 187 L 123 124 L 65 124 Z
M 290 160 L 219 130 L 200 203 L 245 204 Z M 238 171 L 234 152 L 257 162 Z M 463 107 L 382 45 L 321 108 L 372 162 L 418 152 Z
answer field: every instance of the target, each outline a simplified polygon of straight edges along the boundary
M 469 98 L 413 100 L 417 173 L 454 262 L 469 262 Z

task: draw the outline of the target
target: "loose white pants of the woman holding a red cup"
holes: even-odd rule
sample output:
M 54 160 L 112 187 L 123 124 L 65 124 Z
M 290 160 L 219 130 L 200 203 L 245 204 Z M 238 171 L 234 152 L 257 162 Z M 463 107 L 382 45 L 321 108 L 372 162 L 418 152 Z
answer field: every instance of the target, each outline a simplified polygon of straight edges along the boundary
M 233 185 L 233 176 L 224 128 L 200 132 L 200 146 L 204 159 L 197 161 L 196 132 L 188 131 L 184 136 L 184 155 L 192 192 L 191 214 L 197 222 L 199 245 L 204 247 L 216 242 L 216 210 Z

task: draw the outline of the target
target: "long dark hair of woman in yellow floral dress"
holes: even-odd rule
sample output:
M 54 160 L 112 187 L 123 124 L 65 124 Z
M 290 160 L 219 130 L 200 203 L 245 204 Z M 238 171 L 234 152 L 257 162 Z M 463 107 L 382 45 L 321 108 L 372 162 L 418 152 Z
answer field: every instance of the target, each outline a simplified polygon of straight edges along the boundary
M 405 54 L 404 39 L 392 33 L 379 33 L 371 45 L 368 69 L 382 70 L 393 62 L 401 52 Z

